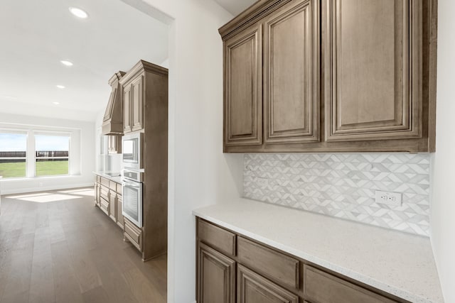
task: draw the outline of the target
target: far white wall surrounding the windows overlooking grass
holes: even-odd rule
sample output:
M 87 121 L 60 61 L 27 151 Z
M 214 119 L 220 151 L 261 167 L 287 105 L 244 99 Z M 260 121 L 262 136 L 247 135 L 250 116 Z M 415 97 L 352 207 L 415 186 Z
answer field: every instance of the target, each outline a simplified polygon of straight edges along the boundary
M 72 165 L 70 169 L 76 175 L 17 180 L 4 179 L 1 181 L 1 194 L 85 187 L 93 184 L 92 171 L 95 170 L 95 155 L 93 153 L 93 150 L 95 150 L 94 122 L 0 113 L 0 123 L 1 126 L 23 124 L 41 128 L 50 127 L 55 130 L 65 128 L 66 130 L 73 131 L 73 139 L 76 139 L 71 142 L 71 157 L 75 161 L 70 160 L 70 165 Z M 77 136 L 80 136 L 80 140 L 77 140 Z

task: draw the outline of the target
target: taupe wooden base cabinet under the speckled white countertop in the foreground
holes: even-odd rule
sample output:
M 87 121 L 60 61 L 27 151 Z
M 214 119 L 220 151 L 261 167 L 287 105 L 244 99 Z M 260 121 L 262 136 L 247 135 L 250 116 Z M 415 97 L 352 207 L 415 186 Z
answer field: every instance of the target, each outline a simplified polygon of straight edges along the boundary
M 198 303 L 407 302 L 197 219 Z

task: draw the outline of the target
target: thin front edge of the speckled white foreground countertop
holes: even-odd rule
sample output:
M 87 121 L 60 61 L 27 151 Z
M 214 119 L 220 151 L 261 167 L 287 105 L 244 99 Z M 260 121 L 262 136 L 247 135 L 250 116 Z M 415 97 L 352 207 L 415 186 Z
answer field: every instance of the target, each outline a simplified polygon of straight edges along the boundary
M 200 208 L 200 209 L 203 209 Z M 217 224 L 219 226 L 223 226 L 224 228 L 228 228 L 231 231 L 235 231 L 236 233 L 240 233 L 243 236 L 247 236 L 249 238 L 252 238 L 256 241 L 262 242 L 264 244 L 267 244 L 269 246 L 272 246 L 273 248 L 277 248 L 279 250 L 282 250 L 286 253 L 289 253 L 291 255 L 295 255 L 298 258 L 307 260 L 311 263 L 314 263 L 316 265 L 320 265 L 323 268 L 327 268 L 328 270 L 333 270 L 333 272 L 338 272 L 341 275 L 345 275 L 346 277 L 350 277 L 353 280 L 357 280 L 359 282 L 363 282 L 366 285 L 370 285 L 371 287 L 375 287 L 378 290 L 382 290 L 384 292 L 387 292 L 389 294 L 395 295 L 396 297 L 400 297 L 401 299 L 405 299 L 410 302 L 415 302 L 415 303 L 440 303 L 440 302 L 434 302 L 431 299 L 424 298 L 424 297 L 419 297 L 416 294 L 412 294 L 410 292 L 407 292 L 406 290 L 402 290 L 390 285 L 387 285 L 385 282 L 381 282 L 375 279 L 372 279 L 368 276 L 365 276 L 359 272 L 355 272 L 353 270 L 349 270 L 349 268 L 344 268 L 340 265 L 336 265 L 333 263 L 330 263 L 326 260 L 323 260 L 321 258 L 318 258 L 314 255 L 309 255 L 307 253 L 304 253 L 300 250 L 296 250 L 294 248 L 289 248 L 288 246 L 283 245 L 282 243 L 279 243 L 277 241 L 273 241 L 269 238 L 266 238 L 264 236 L 259 236 L 256 233 L 252 233 L 250 231 L 247 231 L 243 228 L 233 226 L 231 224 L 228 224 L 224 221 L 221 221 L 219 219 L 213 218 L 212 216 L 205 215 L 201 213 L 199 210 L 200 209 L 194 209 L 193 210 L 193 215 L 198 216 L 201 219 L 205 219 L 207 221 L 212 222 L 213 224 Z

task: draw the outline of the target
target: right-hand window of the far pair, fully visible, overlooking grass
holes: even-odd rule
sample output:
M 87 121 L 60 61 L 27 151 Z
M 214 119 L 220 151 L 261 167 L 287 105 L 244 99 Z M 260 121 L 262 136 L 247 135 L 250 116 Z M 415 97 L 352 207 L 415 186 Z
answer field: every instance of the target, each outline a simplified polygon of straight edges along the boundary
M 35 135 L 35 176 L 68 175 L 69 136 Z

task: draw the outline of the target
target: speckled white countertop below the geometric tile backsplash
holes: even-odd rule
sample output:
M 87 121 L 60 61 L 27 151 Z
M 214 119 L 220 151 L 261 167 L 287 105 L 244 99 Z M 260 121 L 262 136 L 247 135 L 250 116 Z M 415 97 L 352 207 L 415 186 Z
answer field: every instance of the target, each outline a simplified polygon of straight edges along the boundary
M 444 302 L 429 238 L 242 198 L 193 214 L 410 302 Z

